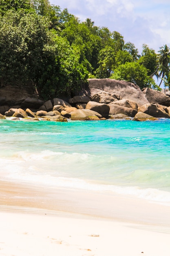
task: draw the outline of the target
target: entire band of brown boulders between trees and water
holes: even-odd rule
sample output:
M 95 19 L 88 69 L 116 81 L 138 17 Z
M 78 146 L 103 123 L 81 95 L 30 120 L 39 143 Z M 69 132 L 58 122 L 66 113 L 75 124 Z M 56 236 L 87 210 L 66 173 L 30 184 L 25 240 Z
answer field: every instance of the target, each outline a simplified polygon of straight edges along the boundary
M 16 95 L 13 106 L 7 94 L 0 94 L 0 119 L 67 121 L 100 119 L 133 119 L 135 121 L 170 118 L 170 91 L 150 88 L 113 79 L 89 79 L 89 94 L 77 95 L 67 101 L 54 98 L 46 102 L 25 93 Z M 7 92 L 6 92 L 7 93 Z M 19 104 L 19 105 L 18 105 Z

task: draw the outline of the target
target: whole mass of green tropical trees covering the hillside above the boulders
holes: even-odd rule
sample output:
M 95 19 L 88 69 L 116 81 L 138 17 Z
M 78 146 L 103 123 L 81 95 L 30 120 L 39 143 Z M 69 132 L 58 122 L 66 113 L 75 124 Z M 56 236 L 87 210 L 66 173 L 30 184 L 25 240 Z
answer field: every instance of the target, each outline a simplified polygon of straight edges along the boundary
M 143 51 L 118 31 L 97 27 L 49 0 L 1 0 L 0 86 L 32 86 L 50 99 L 71 95 L 88 78 L 126 80 L 170 88 L 170 48 Z M 160 84 L 155 83 L 155 79 Z

